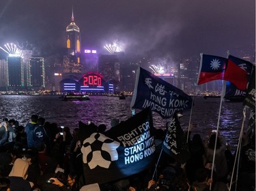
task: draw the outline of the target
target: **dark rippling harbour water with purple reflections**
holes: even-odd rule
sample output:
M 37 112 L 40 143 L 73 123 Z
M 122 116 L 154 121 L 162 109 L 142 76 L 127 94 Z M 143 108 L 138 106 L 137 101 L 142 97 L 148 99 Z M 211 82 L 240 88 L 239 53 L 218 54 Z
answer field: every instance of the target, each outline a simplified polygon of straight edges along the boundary
M 20 125 L 29 122 L 32 114 L 44 117 L 48 122 L 56 122 L 59 126 L 69 126 L 70 129 L 78 127 L 79 121 L 90 120 L 96 125 L 106 124 L 110 128 L 112 118 L 126 120 L 130 117 L 130 101 L 132 97 L 119 100 L 118 97 L 91 96 L 90 101 L 61 101 L 58 96 L 22 96 L 1 95 L 0 117 L 18 120 Z M 199 133 L 202 137 L 207 135 L 209 128 L 216 128 L 220 108 L 220 99 L 203 99 L 195 97 L 191 122 L 198 124 L 193 129 L 192 136 Z M 223 102 L 221 107 L 219 131 L 225 136 L 231 151 L 236 150 L 238 137 L 242 126 L 242 103 Z M 137 110 L 139 111 L 139 110 Z M 246 121 L 248 122 L 248 109 Z M 180 118 L 182 128 L 187 128 L 190 119 L 190 110 L 184 111 Z M 165 128 L 168 120 L 153 112 L 153 122 L 156 128 Z

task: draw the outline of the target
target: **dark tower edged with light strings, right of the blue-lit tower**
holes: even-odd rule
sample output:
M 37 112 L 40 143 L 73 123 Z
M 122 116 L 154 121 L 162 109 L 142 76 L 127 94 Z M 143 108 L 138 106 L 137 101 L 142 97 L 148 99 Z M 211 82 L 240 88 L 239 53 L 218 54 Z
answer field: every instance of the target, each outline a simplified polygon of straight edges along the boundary
M 27 86 L 33 90 L 45 88 L 44 58 L 30 57 L 27 67 Z

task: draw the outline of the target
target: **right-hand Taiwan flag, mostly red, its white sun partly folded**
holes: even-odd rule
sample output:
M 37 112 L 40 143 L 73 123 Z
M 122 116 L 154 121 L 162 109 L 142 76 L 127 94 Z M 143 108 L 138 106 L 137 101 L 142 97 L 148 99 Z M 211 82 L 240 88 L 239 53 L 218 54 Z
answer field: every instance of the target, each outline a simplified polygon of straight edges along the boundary
M 251 71 L 248 73 L 246 69 L 251 69 L 252 66 L 253 65 L 246 60 L 229 55 L 223 80 L 231 82 L 239 90 L 246 90 L 248 77 L 251 76 Z

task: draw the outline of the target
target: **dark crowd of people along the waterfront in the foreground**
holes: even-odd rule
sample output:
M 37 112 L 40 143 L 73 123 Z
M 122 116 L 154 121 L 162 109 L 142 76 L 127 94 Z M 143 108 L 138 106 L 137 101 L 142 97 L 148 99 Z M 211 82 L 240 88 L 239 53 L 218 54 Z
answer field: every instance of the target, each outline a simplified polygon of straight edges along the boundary
M 118 122 L 112 120 L 111 126 Z M 106 131 L 104 124 L 89 125 L 99 133 Z M 68 126 L 46 122 L 37 115 L 32 115 L 25 126 L 5 118 L 0 128 L 0 191 L 228 190 L 234 156 L 225 137 L 210 132 L 203 139 L 199 134 L 190 139 L 190 134 L 184 133 L 184 139 L 189 136 L 190 151 L 184 164 L 161 152 L 165 130 L 158 128 L 154 130 L 156 161 L 160 159 L 157 167 L 152 165 L 147 171 L 113 182 L 86 185 L 79 128 L 71 133 Z M 249 151 L 254 152 L 254 158 Z M 255 135 L 243 141 L 239 172 L 238 181 L 233 182 L 238 190 L 255 190 Z

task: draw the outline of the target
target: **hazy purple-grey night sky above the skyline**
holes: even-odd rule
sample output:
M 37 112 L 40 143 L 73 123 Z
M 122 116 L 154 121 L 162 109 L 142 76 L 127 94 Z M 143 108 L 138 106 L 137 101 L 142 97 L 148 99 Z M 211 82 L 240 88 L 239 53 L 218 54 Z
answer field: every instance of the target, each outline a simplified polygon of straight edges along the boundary
M 13 42 L 55 54 L 66 46 L 72 5 L 82 48 L 100 54 L 114 41 L 126 54 L 173 60 L 255 51 L 255 0 L 0 0 L 0 46 Z

